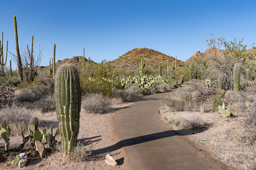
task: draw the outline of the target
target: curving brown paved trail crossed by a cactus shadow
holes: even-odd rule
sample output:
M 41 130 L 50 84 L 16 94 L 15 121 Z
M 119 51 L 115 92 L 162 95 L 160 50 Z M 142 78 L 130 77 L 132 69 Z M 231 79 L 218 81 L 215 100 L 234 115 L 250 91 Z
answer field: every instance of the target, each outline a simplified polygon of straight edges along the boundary
M 222 169 L 195 155 L 197 150 L 158 118 L 160 100 L 165 94 L 146 96 L 113 115 L 115 132 L 128 159 L 125 161 L 134 170 Z

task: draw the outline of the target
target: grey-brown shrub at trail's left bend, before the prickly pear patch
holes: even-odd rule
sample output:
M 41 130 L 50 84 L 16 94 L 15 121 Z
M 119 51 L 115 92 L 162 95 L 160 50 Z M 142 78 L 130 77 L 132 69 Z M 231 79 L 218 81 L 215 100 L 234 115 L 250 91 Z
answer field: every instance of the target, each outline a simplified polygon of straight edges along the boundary
M 126 89 L 117 89 L 113 95 L 114 97 L 120 97 L 123 101 L 129 101 L 140 96 L 140 89 L 137 85 L 132 85 Z

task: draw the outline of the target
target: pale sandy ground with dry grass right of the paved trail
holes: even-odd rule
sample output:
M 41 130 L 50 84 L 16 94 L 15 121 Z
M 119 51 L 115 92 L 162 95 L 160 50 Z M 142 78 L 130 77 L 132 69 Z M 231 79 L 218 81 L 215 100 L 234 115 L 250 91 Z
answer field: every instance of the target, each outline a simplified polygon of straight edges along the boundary
M 171 112 L 162 107 L 159 118 L 194 147 L 200 147 L 201 153 L 195 154 L 210 156 L 234 169 L 256 168 L 255 148 L 245 147 L 237 141 L 238 133 L 244 130 L 240 123 L 242 117 L 223 118 L 219 112 Z M 185 119 L 196 119 L 204 126 L 198 130 L 183 128 Z

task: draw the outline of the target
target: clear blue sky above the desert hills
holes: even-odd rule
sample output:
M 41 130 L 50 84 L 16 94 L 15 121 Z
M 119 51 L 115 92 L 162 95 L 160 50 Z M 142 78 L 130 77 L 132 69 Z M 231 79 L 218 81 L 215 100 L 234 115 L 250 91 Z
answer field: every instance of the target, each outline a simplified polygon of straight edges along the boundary
M 210 34 L 256 43 L 256 1 L 9 1 L 1 0 L 0 32 L 4 49 L 15 51 L 13 17 L 19 45 L 43 47 L 41 65 L 83 54 L 95 62 L 112 61 L 134 48 L 151 48 L 185 61 Z M 202 50 L 203 49 L 203 50 Z M 248 48 L 247 48 L 248 49 Z M 11 55 L 8 55 L 8 61 Z M 8 62 L 9 63 L 9 62 Z M 9 64 L 7 64 L 9 65 Z

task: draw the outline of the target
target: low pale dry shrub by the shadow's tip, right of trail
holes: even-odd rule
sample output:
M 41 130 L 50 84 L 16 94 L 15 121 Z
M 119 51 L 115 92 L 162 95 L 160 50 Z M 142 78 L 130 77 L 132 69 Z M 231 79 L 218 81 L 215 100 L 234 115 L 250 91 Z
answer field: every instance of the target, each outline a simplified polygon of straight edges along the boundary
M 204 121 L 201 119 L 200 115 L 193 115 L 190 118 L 184 118 L 181 121 L 181 127 L 192 128 L 193 130 L 202 129 L 204 127 Z

